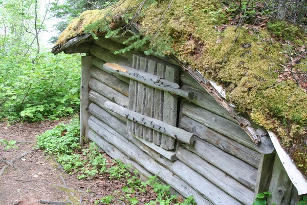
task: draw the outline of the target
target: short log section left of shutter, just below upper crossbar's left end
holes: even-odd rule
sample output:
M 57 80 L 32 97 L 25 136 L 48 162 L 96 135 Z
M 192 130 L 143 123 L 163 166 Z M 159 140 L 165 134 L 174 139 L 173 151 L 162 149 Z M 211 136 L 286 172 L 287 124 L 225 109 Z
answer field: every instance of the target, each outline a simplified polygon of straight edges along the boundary
M 92 77 L 99 80 L 104 85 L 107 85 L 110 88 L 122 93 L 125 96 L 129 96 L 129 85 L 123 82 L 122 80 L 114 77 L 111 74 L 108 74 L 101 69 L 93 66 L 90 70 L 90 74 Z

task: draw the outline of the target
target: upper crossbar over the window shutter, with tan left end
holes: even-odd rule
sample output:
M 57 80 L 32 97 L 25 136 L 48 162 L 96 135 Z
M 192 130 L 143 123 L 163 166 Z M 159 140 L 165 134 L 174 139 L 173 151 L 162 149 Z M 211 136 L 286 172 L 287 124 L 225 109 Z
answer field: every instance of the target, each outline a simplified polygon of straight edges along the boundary
M 193 99 L 193 94 L 194 94 L 193 92 L 186 92 L 180 89 L 178 84 L 171 83 L 170 81 L 161 79 L 156 75 L 146 73 L 131 67 L 119 66 L 117 64 L 111 64 L 111 63 L 104 64 L 103 68 L 112 73 L 118 73 L 119 75 L 137 80 L 140 83 L 148 85 L 152 88 L 163 90 L 173 95 L 178 95 L 187 99 Z

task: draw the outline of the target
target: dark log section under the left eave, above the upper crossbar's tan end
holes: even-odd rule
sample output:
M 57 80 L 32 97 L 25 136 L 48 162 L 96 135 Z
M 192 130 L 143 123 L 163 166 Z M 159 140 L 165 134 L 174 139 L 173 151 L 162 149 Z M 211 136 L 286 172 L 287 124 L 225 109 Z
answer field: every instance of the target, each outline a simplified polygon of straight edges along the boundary
M 91 54 L 108 63 L 116 63 L 128 67 L 132 66 L 132 60 L 123 58 L 119 55 L 115 55 L 113 52 L 101 48 L 95 44 L 91 46 Z

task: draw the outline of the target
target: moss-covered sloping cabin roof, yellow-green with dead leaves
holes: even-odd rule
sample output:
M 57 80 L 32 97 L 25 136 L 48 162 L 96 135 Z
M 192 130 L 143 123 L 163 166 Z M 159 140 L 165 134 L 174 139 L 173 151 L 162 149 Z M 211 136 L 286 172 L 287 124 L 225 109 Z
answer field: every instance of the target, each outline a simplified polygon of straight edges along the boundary
M 141 2 L 125 1 L 111 10 L 85 11 L 59 36 L 56 45 L 82 34 L 84 26 L 101 22 L 106 13 L 133 17 Z M 227 19 L 217 13 L 221 9 L 223 5 L 211 0 L 159 1 L 143 9 L 134 21 L 143 36 L 153 39 L 152 47 L 223 85 L 236 109 L 273 131 L 307 175 L 306 33 L 285 22 L 269 22 L 284 29 L 280 37 L 272 35 L 269 24 L 224 25 Z

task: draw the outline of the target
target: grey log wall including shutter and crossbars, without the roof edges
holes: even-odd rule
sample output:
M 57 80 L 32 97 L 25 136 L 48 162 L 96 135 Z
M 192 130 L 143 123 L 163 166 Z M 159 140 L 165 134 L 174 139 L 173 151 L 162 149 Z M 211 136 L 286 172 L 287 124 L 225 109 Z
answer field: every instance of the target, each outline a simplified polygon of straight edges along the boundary
M 135 89 L 151 86 L 152 75 L 158 75 L 160 67 L 174 68 L 174 66 L 158 58 L 144 57 L 140 51 L 115 55 L 114 51 L 124 48 L 120 43 L 121 40 L 117 40 L 116 43 L 110 39 L 99 38 L 89 48 L 92 54 L 89 58 L 91 60 L 84 61 L 87 65 L 82 64 L 83 67 L 90 67 L 86 71 L 89 76 L 85 79 L 89 89 L 82 90 L 87 92 L 85 96 L 86 100 L 89 100 L 82 104 L 83 107 L 88 106 L 86 115 L 84 108 L 82 109 L 82 117 L 86 119 L 81 119 L 82 122 L 85 120 L 86 126 L 90 128 L 86 128 L 85 137 L 95 141 L 112 157 L 119 158 L 124 163 L 131 163 L 144 176 L 158 175 L 162 181 L 171 185 L 184 197 L 193 195 L 198 204 L 252 204 L 255 192 L 266 190 L 274 192 L 276 187 L 280 186 L 279 179 L 287 178 L 282 173 L 274 174 L 280 169 L 275 154 L 264 155 L 257 152 L 252 140 L 226 110 L 219 106 L 188 73 L 179 68 L 169 71 L 177 72 L 179 79 L 169 77 L 169 80 L 177 82 L 180 88 L 170 84 L 173 90 L 167 93 L 168 98 L 164 98 L 169 101 L 168 104 L 176 103 L 178 109 L 176 107 L 172 110 L 163 110 L 161 107 L 164 113 L 178 115 L 177 123 L 169 119 L 165 121 L 161 116 L 155 117 L 159 115 L 159 110 L 158 114 L 155 110 L 150 110 L 148 113 L 144 111 L 143 115 L 134 114 L 136 100 L 142 98 L 145 103 L 149 100 L 152 106 L 157 106 L 161 104 L 160 99 L 162 99 L 161 89 L 157 85 L 145 92 L 150 96 L 138 96 L 140 93 L 136 95 Z M 142 56 L 148 63 L 148 67 L 147 64 L 144 67 L 144 70 L 148 71 L 148 76 L 142 72 L 134 74 L 135 78 L 129 76 L 129 73 L 136 72 L 129 68 L 140 67 L 137 56 Z M 116 72 L 104 66 L 106 62 L 129 68 L 127 73 Z M 139 74 L 142 79 L 138 78 Z M 156 97 L 152 98 L 151 95 Z M 145 108 L 150 106 L 145 105 Z M 140 116 L 144 116 L 143 119 L 139 119 Z M 144 124 L 140 124 L 138 120 Z M 166 122 L 171 125 L 165 125 Z M 149 124 L 156 127 L 150 127 Z M 141 138 L 133 134 L 134 125 L 142 126 L 143 135 L 148 134 L 148 136 Z M 161 131 L 161 128 L 166 130 Z M 160 138 L 155 132 L 161 133 Z M 168 138 L 165 138 L 166 136 Z M 169 151 L 160 145 L 166 139 L 174 140 L 176 145 L 174 150 Z M 262 183 L 264 180 L 271 183 Z M 284 191 L 284 195 L 289 197 L 287 202 L 282 204 L 294 204 L 290 202 L 290 196 L 295 195 L 295 188 L 291 186 L 289 178 L 284 179 L 284 182 L 287 186 L 289 183 L 290 188 L 288 189 L 288 186 Z M 276 197 L 277 199 L 271 201 L 281 200 L 280 196 Z M 296 197 L 291 201 L 297 200 Z

